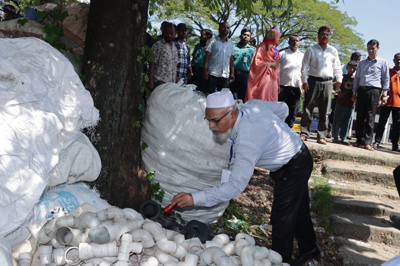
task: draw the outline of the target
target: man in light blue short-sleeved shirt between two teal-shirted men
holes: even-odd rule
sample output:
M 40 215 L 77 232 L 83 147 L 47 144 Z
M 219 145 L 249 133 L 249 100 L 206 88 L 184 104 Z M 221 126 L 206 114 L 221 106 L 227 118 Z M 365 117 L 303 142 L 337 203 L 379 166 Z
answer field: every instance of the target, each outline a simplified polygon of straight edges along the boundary
M 233 44 L 228 40 L 230 26 L 221 22 L 219 35 L 209 40 L 205 48 L 203 78 L 206 79 L 205 90 L 208 93 L 229 88 L 229 82 L 234 81 Z

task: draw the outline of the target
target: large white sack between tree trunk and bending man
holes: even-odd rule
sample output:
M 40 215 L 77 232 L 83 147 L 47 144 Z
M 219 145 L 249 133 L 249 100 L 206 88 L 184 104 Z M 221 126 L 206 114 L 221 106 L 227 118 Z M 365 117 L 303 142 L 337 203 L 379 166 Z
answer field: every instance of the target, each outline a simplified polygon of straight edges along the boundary
M 166 206 L 179 192 L 191 193 L 216 186 L 222 167 L 227 166 L 230 142 L 218 145 L 204 122 L 205 96 L 193 85 L 167 83 L 158 86 L 147 99 L 141 140 L 146 171 L 155 171 L 153 182 L 165 191 Z M 232 160 L 233 163 L 233 160 Z M 174 209 L 188 222 L 215 222 L 229 202 L 213 207 Z

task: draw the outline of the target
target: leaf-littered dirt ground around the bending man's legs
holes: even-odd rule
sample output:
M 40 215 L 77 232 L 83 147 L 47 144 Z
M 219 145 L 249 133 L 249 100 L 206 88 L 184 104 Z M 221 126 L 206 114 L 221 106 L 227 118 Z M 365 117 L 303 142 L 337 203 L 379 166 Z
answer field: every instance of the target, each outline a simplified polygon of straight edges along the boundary
M 268 171 L 256 168 L 246 189 L 238 197 L 231 200 L 230 205 L 237 204 L 237 210 L 251 222 L 244 226 L 241 232 L 252 235 L 256 245 L 270 249 L 271 226 L 269 223 L 270 210 L 273 201 L 273 180 L 269 178 Z M 229 209 L 229 208 L 228 208 Z M 314 223 L 316 242 L 323 251 L 323 258 L 314 261 L 314 266 L 340 266 L 337 250 L 333 244 L 333 235 L 329 234 L 327 227 L 322 228 L 319 217 L 312 211 L 311 218 Z M 220 219 L 219 222 L 222 222 Z M 226 220 L 226 219 L 225 219 Z M 262 226 L 260 226 L 262 225 Z M 211 229 L 220 233 L 221 229 Z M 247 232 L 244 232 L 247 231 Z M 293 256 L 298 253 L 297 244 L 293 245 Z

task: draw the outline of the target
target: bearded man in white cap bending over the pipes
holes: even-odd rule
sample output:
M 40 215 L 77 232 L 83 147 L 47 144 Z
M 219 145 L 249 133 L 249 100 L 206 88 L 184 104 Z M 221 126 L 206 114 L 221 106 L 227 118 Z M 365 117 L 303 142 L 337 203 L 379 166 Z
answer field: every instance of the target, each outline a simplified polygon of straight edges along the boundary
M 214 141 L 220 145 L 230 142 L 232 153 L 226 155 L 221 184 L 191 194 L 181 192 L 172 198 L 171 206 L 213 206 L 229 201 L 243 192 L 254 166 L 267 169 L 275 181 L 272 250 L 282 256 L 283 262 L 300 266 L 322 258 L 323 253 L 316 245 L 309 212 L 307 182 L 312 157 L 300 137 L 284 123 L 287 114 L 283 102 L 250 100 L 237 110 L 231 93 L 208 95 L 204 120 Z M 232 156 L 234 162 L 230 165 Z M 299 256 L 291 262 L 294 237 Z

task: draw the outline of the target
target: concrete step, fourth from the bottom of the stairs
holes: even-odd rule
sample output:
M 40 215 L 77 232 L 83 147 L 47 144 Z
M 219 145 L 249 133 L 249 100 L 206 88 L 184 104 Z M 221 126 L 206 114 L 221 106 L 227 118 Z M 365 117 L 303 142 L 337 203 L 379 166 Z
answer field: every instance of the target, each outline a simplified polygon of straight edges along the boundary
M 329 180 L 330 187 L 336 194 L 385 197 L 398 201 L 398 192 L 395 187 L 374 185 L 369 183 L 357 183 L 344 180 Z

